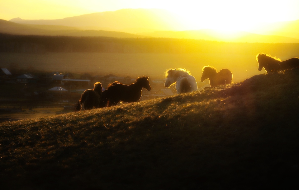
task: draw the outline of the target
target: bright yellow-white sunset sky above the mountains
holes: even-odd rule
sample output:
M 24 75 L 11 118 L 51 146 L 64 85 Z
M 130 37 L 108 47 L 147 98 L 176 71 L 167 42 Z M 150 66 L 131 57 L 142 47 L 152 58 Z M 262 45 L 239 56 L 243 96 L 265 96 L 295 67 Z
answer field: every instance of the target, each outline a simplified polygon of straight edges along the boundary
M 0 0 L 0 19 L 60 19 L 123 8 L 167 9 L 188 29 L 245 29 L 299 19 L 299 0 Z

